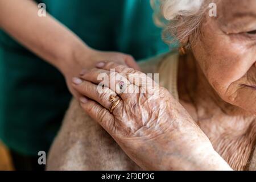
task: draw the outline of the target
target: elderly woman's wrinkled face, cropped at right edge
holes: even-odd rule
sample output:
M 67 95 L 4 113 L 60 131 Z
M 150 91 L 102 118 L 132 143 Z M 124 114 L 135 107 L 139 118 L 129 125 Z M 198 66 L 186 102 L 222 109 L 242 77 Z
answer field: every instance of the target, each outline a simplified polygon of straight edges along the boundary
M 196 60 L 223 100 L 256 114 L 256 1 L 221 1 L 205 16 Z

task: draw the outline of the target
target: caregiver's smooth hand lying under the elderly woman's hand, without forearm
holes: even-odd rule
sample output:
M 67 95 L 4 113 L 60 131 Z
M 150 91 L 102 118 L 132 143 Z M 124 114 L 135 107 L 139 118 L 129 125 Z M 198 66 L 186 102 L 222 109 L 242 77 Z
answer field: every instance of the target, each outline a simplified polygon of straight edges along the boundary
M 69 90 L 77 99 L 81 96 L 71 86 L 71 78 L 78 75 L 81 69 L 94 68 L 98 61 L 114 61 L 119 64 L 127 65 L 134 69 L 140 69 L 132 56 L 119 52 L 104 52 L 86 47 L 82 51 L 77 51 L 72 60 L 63 61 L 58 68 L 63 73 Z

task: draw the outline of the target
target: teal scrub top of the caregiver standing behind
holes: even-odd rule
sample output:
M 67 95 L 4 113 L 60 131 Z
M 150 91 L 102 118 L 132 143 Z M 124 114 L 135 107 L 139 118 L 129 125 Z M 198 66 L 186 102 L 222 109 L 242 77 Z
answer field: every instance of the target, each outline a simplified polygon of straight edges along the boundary
M 92 48 L 137 60 L 168 51 L 149 0 L 40 2 Z M 71 99 L 64 77 L 0 30 L 0 85 L 0 139 L 20 154 L 48 151 Z

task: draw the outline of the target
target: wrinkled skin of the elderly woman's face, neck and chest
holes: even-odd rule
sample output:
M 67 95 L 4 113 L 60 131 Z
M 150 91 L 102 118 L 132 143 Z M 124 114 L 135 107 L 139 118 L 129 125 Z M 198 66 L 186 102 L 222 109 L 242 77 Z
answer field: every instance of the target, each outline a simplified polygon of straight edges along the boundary
M 217 17 L 205 16 L 200 41 L 180 60 L 181 104 L 238 170 L 256 143 L 255 14 L 256 1 L 218 1 Z

